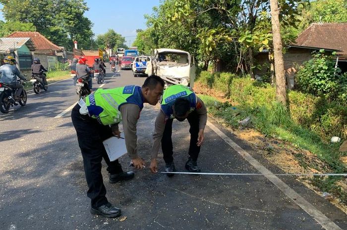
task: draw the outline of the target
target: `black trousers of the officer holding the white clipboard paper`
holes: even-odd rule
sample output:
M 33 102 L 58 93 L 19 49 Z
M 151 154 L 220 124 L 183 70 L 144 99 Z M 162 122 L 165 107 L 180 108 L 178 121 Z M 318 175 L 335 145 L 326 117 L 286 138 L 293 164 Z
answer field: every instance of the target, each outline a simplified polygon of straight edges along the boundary
M 110 161 L 105 150 L 103 140 L 113 136 L 109 126 L 98 123 L 89 115 L 81 115 L 79 113 L 80 106 L 78 104 L 72 109 L 72 124 L 77 133 L 78 144 L 82 152 L 84 173 L 88 184 L 87 196 L 91 199 L 93 208 L 107 204 L 106 188 L 103 183 L 101 174 L 101 161 L 104 158 L 110 174 L 123 172 L 118 160 Z

